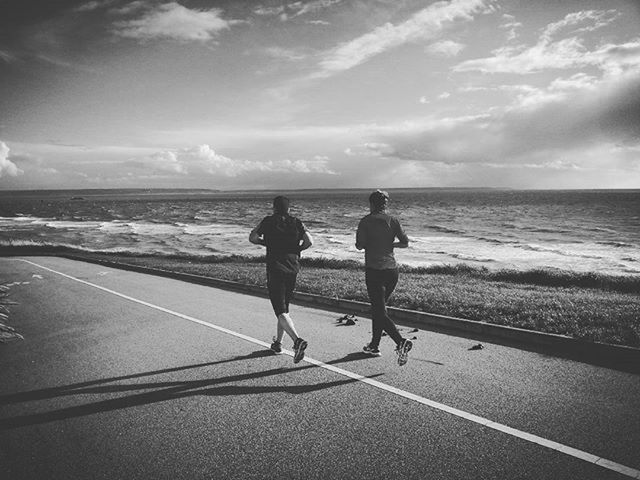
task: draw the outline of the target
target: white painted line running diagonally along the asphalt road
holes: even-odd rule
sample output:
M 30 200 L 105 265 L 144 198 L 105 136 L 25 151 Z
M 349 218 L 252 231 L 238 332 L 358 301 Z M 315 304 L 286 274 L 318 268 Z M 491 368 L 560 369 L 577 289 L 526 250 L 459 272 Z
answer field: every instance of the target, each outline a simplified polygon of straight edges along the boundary
M 73 280 L 73 281 L 88 285 L 90 287 L 97 288 L 98 290 L 102 290 L 102 291 L 110 293 L 112 295 L 116 295 L 118 297 L 124 298 L 126 300 L 131 301 L 131 302 L 135 302 L 135 303 L 138 303 L 140 305 L 144 305 L 146 307 L 153 308 L 155 310 L 159 310 L 159 311 L 164 312 L 164 313 L 168 313 L 168 314 L 173 315 L 173 316 L 178 317 L 178 318 L 182 318 L 183 320 L 188 320 L 190 322 L 194 322 L 194 323 L 198 323 L 200 325 L 204 325 L 205 327 L 213 328 L 214 330 L 218 330 L 219 332 L 223 332 L 223 333 L 226 333 L 228 335 L 233 335 L 234 337 L 241 338 L 243 340 L 246 340 L 247 342 L 255 343 L 256 345 L 260 345 L 260 346 L 263 346 L 263 347 L 266 347 L 266 348 L 270 347 L 270 344 L 268 344 L 266 342 L 263 342 L 261 340 L 258 340 L 256 338 L 249 337 L 248 335 L 243 335 L 242 333 L 234 332 L 233 330 L 229 330 L 227 328 L 220 327 L 218 325 L 214 325 L 213 323 L 205 322 L 204 320 L 199 320 L 197 318 L 190 317 L 189 315 L 185 315 L 183 313 L 175 312 L 173 310 L 169 310 L 168 308 L 160 307 L 158 305 L 154 305 L 153 303 L 145 302 L 144 300 L 139 300 L 137 298 L 130 297 L 130 296 L 125 295 L 123 293 L 116 292 L 115 290 L 111 290 L 111 289 L 108 289 L 108 288 L 105 288 L 105 287 L 101 287 L 100 285 L 96 285 L 95 283 L 90 283 L 90 282 L 87 282 L 85 280 L 81 280 L 79 278 L 72 277 L 71 275 L 67 275 L 66 273 L 62 273 L 62 272 L 58 272 L 56 270 L 52 270 L 51 268 L 45 267 L 43 265 L 39 265 L 39 264 L 31 262 L 29 260 L 24 260 L 24 259 L 18 259 L 18 260 L 21 260 L 23 262 L 29 263 L 29 264 L 31 264 L 31 265 L 33 265 L 35 267 L 42 268 L 43 270 L 47 270 L 49 272 L 55 273 L 55 274 L 60 275 L 62 277 L 68 278 L 70 280 Z M 293 352 L 291 352 L 289 350 L 283 350 L 283 352 L 286 353 L 287 355 L 293 356 Z M 533 435 L 531 433 L 527 433 L 527 432 L 524 432 L 522 430 L 517 430 L 517 429 L 511 428 L 511 427 L 509 427 L 507 425 L 502 425 L 500 423 L 493 422 L 493 421 L 491 421 L 491 420 L 489 420 L 487 418 L 480 417 L 478 415 L 474 415 L 472 413 L 468 413 L 468 412 L 465 412 L 463 410 L 458 410 L 457 408 L 450 407 L 450 406 L 445 405 L 443 403 L 438 403 L 438 402 L 435 402 L 433 400 L 429 400 L 428 398 L 424 398 L 424 397 L 421 397 L 421 396 L 416 395 L 414 393 L 407 392 L 406 390 L 401 390 L 399 388 L 392 387 L 391 385 L 387 385 L 387 384 L 379 382 L 377 380 L 373 380 L 371 378 L 364 377 L 364 376 L 359 375 L 357 373 L 350 372 L 349 370 L 344 370 L 344 369 L 336 367 L 334 365 L 326 364 L 324 362 L 321 362 L 320 360 L 315 360 L 315 359 L 310 358 L 310 357 L 305 357 L 304 361 L 306 361 L 307 363 L 310 363 L 312 365 L 316 365 L 317 367 L 324 368 L 325 370 L 329 370 L 331 372 L 335 372 L 335 373 L 337 373 L 339 375 L 343 375 L 345 377 L 352 378 L 354 380 L 358 380 L 358 381 L 360 381 L 362 383 L 366 383 L 367 385 L 371 385 L 372 387 L 379 388 L 379 389 L 384 390 L 384 391 L 389 392 L 389 393 L 393 393 L 393 394 L 398 395 L 400 397 L 403 397 L 403 398 L 406 398 L 406 399 L 409 399 L 409 400 L 413 400 L 415 402 L 421 403 L 423 405 L 427 405 L 427 406 L 429 406 L 431 408 L 435 408 L 435 409 L 443 411 L 443 412 L 450 413 L 451 415 L 455 415 L 456 417 L 464 418 L 465 420 L 469 420 L 471 422 L 483 425 L 483 426 L 485 426 L 487 428 L 491 428 L 493 430 L 497 430 L 499 432 L 506 433 L 507 435 L 511 435 L 513 437 L 517 437 L 517 438 L 520 438 L 522 440 L 526 440 L 528 442 L 535 443 L 535 444 L 541 445 L 543 447 L 550 448 L 552 450 L 556 450 L 558 452 L 562 452 L 562 453 L 564 453 L 566 455 L 569 455 L 571 457 L 578 458 L 578 459 L 583 460 L 585 462 L 593 463 L 594 465 L 598 465 L 598 466 L 600 466 L 602 468 L 606 468 L 608 470 L 613 470 L 614 472 L 618 472 L 618 473 L 621 473 L 621 474 L 626 475 L 628 477 L 640 480 L 640 470 L 637 470 L 635 468 L 627 467 L 626 465 L 622 465 L 620 463 L 613 462 L 613 461 L 608 460 L 606 458 L 598 457 L 597 455 L 593 455 L 591 453 L 588 453 L 588 452 L 585 452 L 585 451 L 582 451 L 582 450 L 578 450 L 577 448 L 569 447 L 567 445 L 563 445 L 561 443 L 554 442 L 553 440 L 547 440 L 546 438 L 539 437 L 537 435 Z

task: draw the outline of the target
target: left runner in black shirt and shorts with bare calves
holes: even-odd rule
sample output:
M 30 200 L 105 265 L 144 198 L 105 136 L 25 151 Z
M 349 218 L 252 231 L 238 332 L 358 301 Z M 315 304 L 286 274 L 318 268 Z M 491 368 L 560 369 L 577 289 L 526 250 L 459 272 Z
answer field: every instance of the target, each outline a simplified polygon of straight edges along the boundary
M 273 311 L 278 317 L 276 336 L 271 350 L 282 352 L 282 339 L 286 332 L 293 340 L 293 362 L 304 358 L 307 342 L 300 338 L 289 315 L 289 301 L 300 271 L 300 252 L 309 248 L 313 239 L 304 224 L 289 215 L 289 199 L 273 199 L 273 215 L 264 217 L 251 231 L 249 241 L 267 247 L 267 288 Z

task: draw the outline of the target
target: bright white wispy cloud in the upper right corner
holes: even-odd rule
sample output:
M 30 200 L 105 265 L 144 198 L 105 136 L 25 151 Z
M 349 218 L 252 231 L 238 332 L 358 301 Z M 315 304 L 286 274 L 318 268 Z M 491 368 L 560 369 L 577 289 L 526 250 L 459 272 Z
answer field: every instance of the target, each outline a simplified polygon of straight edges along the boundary
M 596 67 L 607 74 L 617 75 L 640 68 L 640 38 L 623 44 L 601 44 L 591 50 L 579 35 L 555 39 L 567 29 L 571 29 L 573 34 L 591 32 L 608 25 L 615 18 L 613 11 L 572 13 L 547 25 L 533 46 L 504 46 L 494 50 L 492 57 L 468 60 L 453 70 L 530 74 L 549 69 Z

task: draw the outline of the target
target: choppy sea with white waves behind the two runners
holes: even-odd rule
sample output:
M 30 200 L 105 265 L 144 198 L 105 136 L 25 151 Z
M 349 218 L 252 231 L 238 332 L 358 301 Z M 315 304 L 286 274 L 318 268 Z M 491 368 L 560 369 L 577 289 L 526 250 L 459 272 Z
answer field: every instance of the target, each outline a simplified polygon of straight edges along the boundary
M 0 192 L 0 246 L 88 252 L 264 255 L 249 232 L 275 195 L 311 232 L 303 255 L 363 261 L 355 248 L 369 190 L 75 190 Z M 640 190 L 391 189 L 410 266 L 554 269 L 640 275 Z

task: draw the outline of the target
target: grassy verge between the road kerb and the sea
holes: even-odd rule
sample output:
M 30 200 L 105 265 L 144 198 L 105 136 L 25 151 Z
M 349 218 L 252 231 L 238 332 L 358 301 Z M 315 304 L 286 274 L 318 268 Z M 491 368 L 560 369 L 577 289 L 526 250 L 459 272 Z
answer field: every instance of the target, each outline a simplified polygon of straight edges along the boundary
M 266 284 L 263 259 L 87 254 L 132 265 Z M 298 291 L 368 301 L 362 265 L 303 259 Z M 640 347 L 640 278 L 467 266 L 403 267 L 391 305 L 574 338 Z

